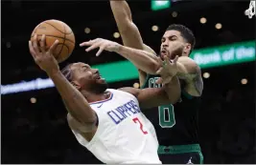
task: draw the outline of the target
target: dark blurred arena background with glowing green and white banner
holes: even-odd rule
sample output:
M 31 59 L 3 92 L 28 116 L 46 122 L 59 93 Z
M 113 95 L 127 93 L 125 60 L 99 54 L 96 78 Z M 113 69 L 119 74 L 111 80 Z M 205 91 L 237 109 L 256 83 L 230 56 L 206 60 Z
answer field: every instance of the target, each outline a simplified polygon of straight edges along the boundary
M 172 1 L 163 10 L 151 10 L 151 1 L 128 3 L 145 43 L 156 52 L 170 24 L 183 24 L 195 32 L 194 57 L 198 55 L 204 77 L 198 122 L 205 163 L 255 163 L 255 16 L 244 15 L 249 1 Z M 69 130 L 57 90 L 43 81 L 48 77 L 35 65 L 28 40 L 41 21 L 61 20 L 72 28 L 77 43 L 61 68 L 75 61 L 100 65 L 110 88 L 133 86 L 138 83 L 137 72 L 123 57 L 110 52 L 96 57 L 96 52 L 78 46 L 96 37 L 122 43 L 117 33 L 117 38 L 113 36 L 117 27 L 109 3 L 14 0 L 1 4 L 1 163 L 100 163 Z M 206 23 L 200 23 L 205 22 L 201 17 Z

